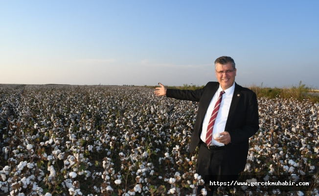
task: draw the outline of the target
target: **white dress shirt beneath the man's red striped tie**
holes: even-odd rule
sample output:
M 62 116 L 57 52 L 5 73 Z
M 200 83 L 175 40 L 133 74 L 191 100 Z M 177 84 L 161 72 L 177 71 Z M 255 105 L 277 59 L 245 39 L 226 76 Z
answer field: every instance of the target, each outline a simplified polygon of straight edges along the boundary
M 234 94 L 234 90 L 235 90 L 235 82 L 231 87 L 226 89 L 225 93 L 223 94 L 222 102 L 221 102 L 221 105 L 220 105 L 220 108 L 219 108 L 219 111 L 218 111 L 218 114 L 217 114 L 217 117 L 215 120 L 215 124 L 213 127 L 213 133 L 212 133 L 213 135 L 212 135 L 211 145 L 224 146 L 224 144 L 219 143 L 214 139 L 214 134 L 217 132 L 221 133 L 221 132 L 225 131 L 225 126 L 226 126 L 226 122 L 227 122 L 227 118 L 228 118 L 230 103 L 231 103 L 232 96 Z M 208 123 L 210 121 L 210 116 L 213 113 L 215 104 L 217 102 L 217 99 L 218 99 L 221 91 L 223 91 L 223 89 L 219 85 L 218 90 L 216 91 L 214 97 L 211 99 L 209 106 L 207 108 L 204 122 L 203 122 L 203 130 L 201 133 L 201 139 L 203 142 L 205 142 L 205 140 L 206 140 L 206 132 L 207 132 Z

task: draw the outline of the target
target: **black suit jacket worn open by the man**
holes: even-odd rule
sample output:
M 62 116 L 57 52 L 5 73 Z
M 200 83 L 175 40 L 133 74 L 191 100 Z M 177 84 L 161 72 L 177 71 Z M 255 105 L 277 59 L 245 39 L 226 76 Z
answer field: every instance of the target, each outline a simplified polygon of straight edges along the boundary
M 168 98 L 199 101 L 194 131 L 189 151 L 193 152 L 201 143 L 201 132 L 204 117 L 211 99 L 219 88 L 218 82 L 208 82 L 202 89 L 176 90 L 167 89 Z M 235 83 L 235 90 L 231 100 L 225 131 L 229 132 L 231 143 L 225 145 L 227 159 L 232 172 L 244 171 L 249 150 L 249 138 L 259 129 L 258 103 L 254 92 Z

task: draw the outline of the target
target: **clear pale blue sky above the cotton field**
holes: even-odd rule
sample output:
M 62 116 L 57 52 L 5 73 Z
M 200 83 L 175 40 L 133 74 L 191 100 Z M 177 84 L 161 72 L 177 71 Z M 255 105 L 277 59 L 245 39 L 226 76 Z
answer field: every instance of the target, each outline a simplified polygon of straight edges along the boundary
M 319 1 L 0 0 L 0 83 L 319 87 Z

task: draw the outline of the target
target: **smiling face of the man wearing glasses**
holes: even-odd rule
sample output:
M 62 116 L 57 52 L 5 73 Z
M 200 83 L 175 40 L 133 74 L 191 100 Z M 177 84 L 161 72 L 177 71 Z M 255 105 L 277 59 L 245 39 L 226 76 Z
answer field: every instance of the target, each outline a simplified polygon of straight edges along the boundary
M 228 89 L 234 84 L 236 69 L 232 68 L 231 62 L 225 65 L 216 64 L 216 77 L 223 90 Z

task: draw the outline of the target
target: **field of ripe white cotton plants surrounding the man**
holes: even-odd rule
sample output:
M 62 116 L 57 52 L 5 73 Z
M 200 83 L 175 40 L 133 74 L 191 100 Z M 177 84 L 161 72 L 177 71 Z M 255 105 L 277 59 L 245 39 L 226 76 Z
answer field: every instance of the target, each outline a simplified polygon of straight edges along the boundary
M 258 104 L 247 181 L 307 179 L 289 194 L 319 196 L 319 104 Z M 144 87 L 0 85 L 0 195 L 195 196 L 205 184 L 188 152 L 197 106 Z M 283 194 L 244 185 L 233 195 L 256 191 Z

